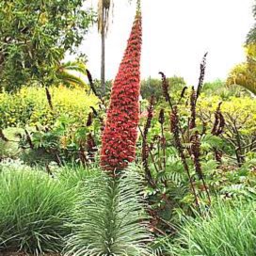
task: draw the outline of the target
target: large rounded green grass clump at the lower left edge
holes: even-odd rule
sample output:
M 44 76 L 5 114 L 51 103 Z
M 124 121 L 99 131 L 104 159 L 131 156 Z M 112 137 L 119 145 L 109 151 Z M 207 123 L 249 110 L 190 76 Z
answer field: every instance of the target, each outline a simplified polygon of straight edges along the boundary
M 75 189 L 16 162 L 0 168 L 0 249 L 60 251 L 70 233 Z

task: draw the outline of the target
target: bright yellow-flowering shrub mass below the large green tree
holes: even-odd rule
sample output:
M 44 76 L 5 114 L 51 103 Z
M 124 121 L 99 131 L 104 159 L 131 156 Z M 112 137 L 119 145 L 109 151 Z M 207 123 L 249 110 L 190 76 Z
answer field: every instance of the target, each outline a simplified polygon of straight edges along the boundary
M 72 116 L 79 124 L 88 119 L 89 106 L 96 107 L 98 99 L 85 88 L 50 88 L 54 111 L 47 103 L 44 88 L 22 88 L 15 94 L 0 93 L 0 127 L 52 125 L 62 115 Z

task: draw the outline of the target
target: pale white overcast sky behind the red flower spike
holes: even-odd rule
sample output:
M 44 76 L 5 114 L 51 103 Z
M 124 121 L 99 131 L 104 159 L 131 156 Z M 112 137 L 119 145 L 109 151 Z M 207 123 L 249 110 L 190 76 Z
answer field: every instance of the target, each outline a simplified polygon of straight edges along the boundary
M 88 0 L 97 8 L 98 0 Z M 115 0 L 113 23 L 106 38 L 107 79 L 114 79 L 128 40 L 136 5 Z M 253 24 L 253 0 L 142 0 L 143 45 L 141 76 L 183 76 L 189 84 L 199 77 L 200 60 L 208 51 L 206 81 L 225 79 L 233 65 L 245 59 L 243 44 Z M 81 49 L 88 69 L 100 77 L 101 38 L 97 27 Z

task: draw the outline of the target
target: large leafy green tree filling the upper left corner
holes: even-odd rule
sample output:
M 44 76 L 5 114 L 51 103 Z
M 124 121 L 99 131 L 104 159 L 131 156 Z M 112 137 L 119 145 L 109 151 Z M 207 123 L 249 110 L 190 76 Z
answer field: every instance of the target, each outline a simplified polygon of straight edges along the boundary
M 0 87 L 49 86 L 60 61 L 75 53 L 94 14 L 85 0 L 0 0 Z

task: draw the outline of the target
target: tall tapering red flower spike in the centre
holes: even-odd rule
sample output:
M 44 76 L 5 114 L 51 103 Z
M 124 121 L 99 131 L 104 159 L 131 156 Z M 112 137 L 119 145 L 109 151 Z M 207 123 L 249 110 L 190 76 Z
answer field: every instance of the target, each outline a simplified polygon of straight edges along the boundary
M 101 165 L 105 170 L 120 170 L 135 160 L 139 121 L 141 30 L 141 14 L 137 11 L 111 91 L 101 152 Z

